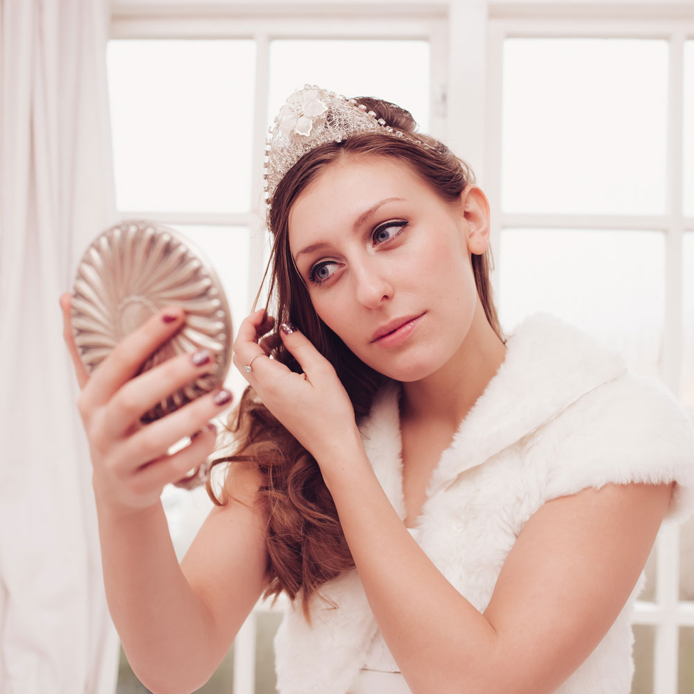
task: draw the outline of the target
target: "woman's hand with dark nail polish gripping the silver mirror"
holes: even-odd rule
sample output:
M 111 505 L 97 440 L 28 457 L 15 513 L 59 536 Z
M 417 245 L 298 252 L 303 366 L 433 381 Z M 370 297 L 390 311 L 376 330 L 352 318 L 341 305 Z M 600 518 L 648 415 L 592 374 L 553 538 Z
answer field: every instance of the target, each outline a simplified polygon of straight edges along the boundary
M 230 402 L 231 393 L 216 389 L 142 425 L 140 417 L 162 398 L 208 373 L 214 357 L 196 364 L 190 354 L 177 355 L 135 376 L 183 325 L 185 312 L 170 306 L 127 335 L 90 376 L 72 335 L 70 297 L 60 296 L 63 337 L 81 389 L 77 406 L 90 446 L 96 500 L 121 513 L 153 506 L 164 485 L 205 464 L 216 440 L 210 419 Z M 170 446 L 193 434 L 189 446 L 167 454 Z

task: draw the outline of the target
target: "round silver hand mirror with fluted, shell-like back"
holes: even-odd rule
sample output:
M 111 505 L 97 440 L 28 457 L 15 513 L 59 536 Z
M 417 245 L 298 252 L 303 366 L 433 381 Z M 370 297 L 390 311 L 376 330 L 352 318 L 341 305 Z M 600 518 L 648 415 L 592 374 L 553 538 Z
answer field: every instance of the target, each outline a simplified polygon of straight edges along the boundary
M 185 323 L 137 373 L 169 357 L 206 348 L 214 371 L 165 398 L 143 423 L 182 407 L 223 384 L 231 362 L 229 305 L 212 264 L 176 232 L 155 221 L 123 221 L 96 237 L 77 269 L 71 302 L 75 343 L 92 373 L 128 333 L 164 306 L 185 309 Z

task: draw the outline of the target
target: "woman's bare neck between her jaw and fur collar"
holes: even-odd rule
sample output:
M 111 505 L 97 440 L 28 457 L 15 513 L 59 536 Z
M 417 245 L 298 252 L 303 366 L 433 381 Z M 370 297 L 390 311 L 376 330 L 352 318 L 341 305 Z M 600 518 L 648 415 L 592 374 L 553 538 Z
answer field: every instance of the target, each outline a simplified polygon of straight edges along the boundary
M 400 416 L 447 421 L 457 429 L 505 358 L 506 346 L 478 300 L 470 330 L 455 355 L 427 378 L 403 383 Z

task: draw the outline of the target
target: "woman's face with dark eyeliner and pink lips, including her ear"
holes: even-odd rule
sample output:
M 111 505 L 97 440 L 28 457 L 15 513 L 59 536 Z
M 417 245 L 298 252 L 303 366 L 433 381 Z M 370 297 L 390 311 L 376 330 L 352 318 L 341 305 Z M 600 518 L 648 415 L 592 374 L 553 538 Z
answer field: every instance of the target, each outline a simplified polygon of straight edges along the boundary
M 364 363 L 404 382 L 461 348 L 479 301 L 470 253 L 483 252 L 488 233 L 480 189 L 447 203 L 384 157 L 336 162 L 289 214 L 289 247 L 316 312 Z

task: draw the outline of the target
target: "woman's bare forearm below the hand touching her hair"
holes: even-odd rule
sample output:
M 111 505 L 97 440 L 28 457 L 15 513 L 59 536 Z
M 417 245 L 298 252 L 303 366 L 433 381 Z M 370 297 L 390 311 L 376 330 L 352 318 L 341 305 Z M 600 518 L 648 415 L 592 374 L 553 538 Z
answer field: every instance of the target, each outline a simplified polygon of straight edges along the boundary
M 334 463 L 326 466 L 325 482 L 373 615 L 409 686 L 446 693 L 461 691 L 465 682 L 465 691 L 489 691 L 484 687 L 497 644 L 489 621 L 407 532 L 366 455 L 353 452 Z

